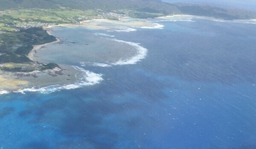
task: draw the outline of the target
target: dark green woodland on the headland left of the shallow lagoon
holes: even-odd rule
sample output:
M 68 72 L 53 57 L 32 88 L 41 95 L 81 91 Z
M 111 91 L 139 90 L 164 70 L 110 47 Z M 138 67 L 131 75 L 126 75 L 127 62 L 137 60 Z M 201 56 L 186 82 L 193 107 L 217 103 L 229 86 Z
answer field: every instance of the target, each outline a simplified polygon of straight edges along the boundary
M 55 41 L 55 37 L 47 34 L 42 28 L 20 29 L 17 32 L 4 32 L 0 34 L 0 63 L 16 63 L 14 67 L 3 66 L 5 71 L 33 71 L 21 69 L 21 66 L 32 63 L 27 54 L 33 49 L 33 45 Z

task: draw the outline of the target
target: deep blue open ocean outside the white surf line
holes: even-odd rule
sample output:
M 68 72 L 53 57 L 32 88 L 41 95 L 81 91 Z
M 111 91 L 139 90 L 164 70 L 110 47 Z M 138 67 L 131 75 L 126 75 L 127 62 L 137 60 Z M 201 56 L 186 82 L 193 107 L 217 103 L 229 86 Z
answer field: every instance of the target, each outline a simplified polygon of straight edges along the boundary
M 256 25 L 195 21 L 99 31 L 148 54 L 84 66 L 104 74 L 93 86 L 1 95 L 0 148 L 255 149 Z

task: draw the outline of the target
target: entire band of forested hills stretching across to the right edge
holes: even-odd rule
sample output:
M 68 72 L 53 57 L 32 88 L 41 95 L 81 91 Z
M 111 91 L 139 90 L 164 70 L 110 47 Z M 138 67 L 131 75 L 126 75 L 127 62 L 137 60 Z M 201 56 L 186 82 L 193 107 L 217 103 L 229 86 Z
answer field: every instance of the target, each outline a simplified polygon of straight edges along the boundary
M 0 10 L 32 8 L 102 9 L 107 11 L 129 9 L 163 15 L 191 14 L 228 20 L 256 18 L 256 12 L 254 11 L 221 9 L 187 3 L 163 3 L 161 0 L 0 0 Z

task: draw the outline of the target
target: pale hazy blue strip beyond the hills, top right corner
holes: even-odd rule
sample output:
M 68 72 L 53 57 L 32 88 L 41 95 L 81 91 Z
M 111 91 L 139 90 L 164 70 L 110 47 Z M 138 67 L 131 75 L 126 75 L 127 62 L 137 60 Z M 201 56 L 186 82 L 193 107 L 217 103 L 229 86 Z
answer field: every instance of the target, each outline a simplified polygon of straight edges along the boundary
M 169 3 L 197 3 L 222 8 L 239 8 L 256 11 L 256 0 L 162 0 Z

